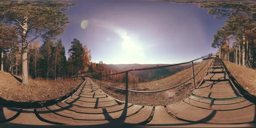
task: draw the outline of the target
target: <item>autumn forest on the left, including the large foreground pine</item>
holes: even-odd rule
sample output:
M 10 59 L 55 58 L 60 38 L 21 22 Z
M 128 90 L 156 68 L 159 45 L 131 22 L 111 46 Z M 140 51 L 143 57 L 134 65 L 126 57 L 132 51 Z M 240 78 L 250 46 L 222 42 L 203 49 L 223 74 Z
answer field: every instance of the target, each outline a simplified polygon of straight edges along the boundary
M 80 40 L 74 39 L 68 49 L 58 36 L 69 19 L 64 11 L 75 6 L 61 2 L 1 2 L 0 3 L 0 60 L 1 71 L 21 75 L 22 84 L 28 77 L 60 80 L 82 78 L 86 72 L 99 78 L 116 73 L 104 67 L 102 61 L 91 62 L 91 50 Z M 42 45 L 40 42 L 43 42 Z M 124 75 L 108 77 L 123 82 Z M 136 76 L 131 78 L 138 80 Z M 133 80 L 133 79 L 131 79 Z

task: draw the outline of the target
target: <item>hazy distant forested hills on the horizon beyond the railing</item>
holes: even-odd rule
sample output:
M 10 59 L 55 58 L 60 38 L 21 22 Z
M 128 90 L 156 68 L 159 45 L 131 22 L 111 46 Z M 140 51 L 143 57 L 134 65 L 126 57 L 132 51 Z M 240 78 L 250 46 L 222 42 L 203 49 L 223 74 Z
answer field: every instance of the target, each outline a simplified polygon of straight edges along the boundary
M 194 63 L 198 64 L 198 63 Z M 105 64 L 105 67 L 111 69 L 112 71 L 122 72 L 130 69 L 142 69 L 150 67 L 159 67 L 169 64 Z M 166 77 L 173 75 L 176 72 L 180 72 L 184 69 L 192 67 L 191 64 L 182 64 L 173 67 L 159 68 L 159 69 L 150 69 L 150 70 L 141 70 L 141 71 L 132 71 L 129 72 L 138 77 L 144 78 L 146 80 L 154 80 L 161 77 Z

